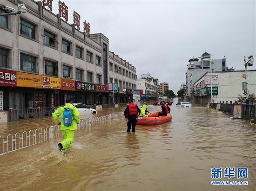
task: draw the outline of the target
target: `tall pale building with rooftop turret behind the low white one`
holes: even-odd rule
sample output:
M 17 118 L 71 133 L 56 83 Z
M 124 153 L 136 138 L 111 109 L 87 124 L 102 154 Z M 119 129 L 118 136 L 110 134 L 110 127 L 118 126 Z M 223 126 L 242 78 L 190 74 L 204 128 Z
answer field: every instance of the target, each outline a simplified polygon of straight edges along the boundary
M 197 58 L 189 59 L 188 70 L 186 73 L 186 87 L 189 98 L 193 101 L 193 86 L 194 83 L 201 78 L 206 72 L 210 71 L 210 54 L 204 52 L 199 61 Z M 211 60 L 212 71 L 226 71 L 226 58 Z

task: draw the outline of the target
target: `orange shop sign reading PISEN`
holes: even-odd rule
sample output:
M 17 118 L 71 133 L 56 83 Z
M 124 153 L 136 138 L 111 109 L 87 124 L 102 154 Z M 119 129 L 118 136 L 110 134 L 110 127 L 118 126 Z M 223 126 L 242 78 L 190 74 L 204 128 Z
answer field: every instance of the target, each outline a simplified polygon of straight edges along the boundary
M 17 86 L 29 88 L 42 88 L 42 76 L 17 72 Z

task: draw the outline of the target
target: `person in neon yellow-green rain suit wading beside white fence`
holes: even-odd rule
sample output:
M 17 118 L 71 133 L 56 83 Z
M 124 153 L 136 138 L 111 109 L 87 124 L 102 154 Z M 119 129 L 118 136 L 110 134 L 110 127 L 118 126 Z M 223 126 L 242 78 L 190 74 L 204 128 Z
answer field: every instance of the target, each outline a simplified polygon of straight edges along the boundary
M 70 126 L 65 126 L 66 122 L 63 121 L 64 110 L 72 111 L 72 123 Z M 59 116 L 61 115 L 62 121 L 60 121 Z M 64 140 L 62 140 L 58 146 L 60 151 L 70 148 L 71 143 L 74 143 L 74 131 L 77 129 L 77 124 L 80 122 L 80 113 L 74 105 L 72 105 L 72 100 L 70 97 L 66 99 L 66 104 L 63 107 L 58 108 L 54 112 L 54 122 L 61 125 L 61 131 L 63 133 Z

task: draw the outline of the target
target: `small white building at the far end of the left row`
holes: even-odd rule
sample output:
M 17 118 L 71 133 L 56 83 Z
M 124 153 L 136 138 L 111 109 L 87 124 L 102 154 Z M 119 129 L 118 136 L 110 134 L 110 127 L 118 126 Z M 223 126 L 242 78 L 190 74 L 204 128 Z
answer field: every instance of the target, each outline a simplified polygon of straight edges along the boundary
M 157 92 L 158 79 L 150 76 L 150 74 L 142 74 L 141 78 L 136 79 L 137 89 L 140 90 L 143 101 L 155 100 L 158 98 Z

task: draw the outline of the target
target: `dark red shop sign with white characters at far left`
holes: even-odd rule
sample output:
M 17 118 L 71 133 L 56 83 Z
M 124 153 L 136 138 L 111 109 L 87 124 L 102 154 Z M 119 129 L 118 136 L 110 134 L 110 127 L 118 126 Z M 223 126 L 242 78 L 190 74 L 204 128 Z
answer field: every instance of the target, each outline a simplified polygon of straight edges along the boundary
M 0 69 L 0 86 L 16 86 L 16 72 Z

